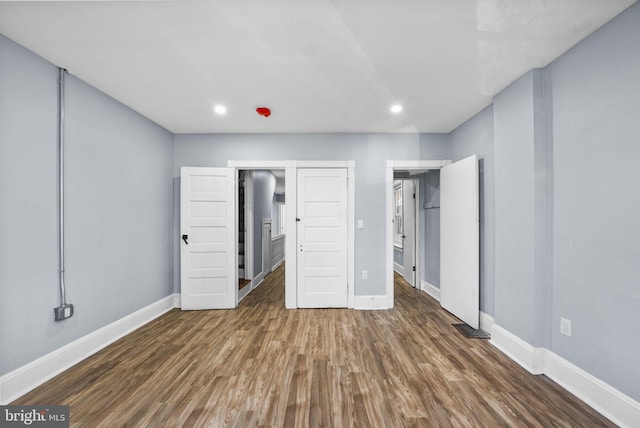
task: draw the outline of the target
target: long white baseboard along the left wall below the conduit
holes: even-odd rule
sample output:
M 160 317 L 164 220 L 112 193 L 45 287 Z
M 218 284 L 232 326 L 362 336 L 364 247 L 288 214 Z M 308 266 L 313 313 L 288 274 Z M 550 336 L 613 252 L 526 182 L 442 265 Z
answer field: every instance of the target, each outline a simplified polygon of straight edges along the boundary
M 0 405 L 6 405 L 133 330 L 176 307 L 172 294 L 0 377 Z M 179 307 L 179 306 L 178 306 Z

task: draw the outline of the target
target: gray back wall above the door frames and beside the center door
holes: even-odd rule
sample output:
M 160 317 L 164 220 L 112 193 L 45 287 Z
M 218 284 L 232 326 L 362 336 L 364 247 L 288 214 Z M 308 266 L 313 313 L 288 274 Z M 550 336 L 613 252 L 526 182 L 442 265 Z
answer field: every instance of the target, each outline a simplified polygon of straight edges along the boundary
M 355 293 L 382 295 L 386 292 L 386 161 L 447 159 L 448 150 L 445 134 L 176 135 L 174 176 L 180 175 L 181 166 L 226 166 L 229 159 L 355 160 L 355 217 L 365 224 L 355 232 Z M 368 280 L 361 279 L 362 270 L 369 271 Z

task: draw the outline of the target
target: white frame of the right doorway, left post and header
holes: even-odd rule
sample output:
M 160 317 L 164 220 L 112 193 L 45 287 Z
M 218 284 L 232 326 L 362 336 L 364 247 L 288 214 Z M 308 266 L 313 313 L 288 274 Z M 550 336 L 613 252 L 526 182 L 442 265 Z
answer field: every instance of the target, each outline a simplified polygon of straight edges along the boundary
M 450 160 L 387 160 L 385 169 L 386 183 L 386 215 L 387 215 L 387 244 L 386 244 L 386 289 L 387 289 L 387 307 L 393 308 L 394 291 L 393 291 L 393 173 L 395 170 L 402 171 L 418 171 L 429 169 L 440 169 L 451 163 Z M 419 245 L 416 242 L 416 245 Z M 419 252 L 419 251 L 418 251 Z M 416 288 L 420 288 L 420 275 L 422 272 L 421 257 L 416 260 Z

